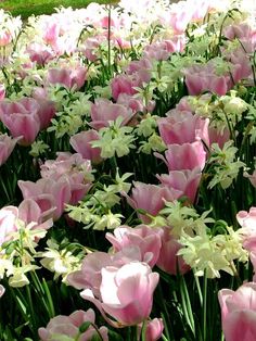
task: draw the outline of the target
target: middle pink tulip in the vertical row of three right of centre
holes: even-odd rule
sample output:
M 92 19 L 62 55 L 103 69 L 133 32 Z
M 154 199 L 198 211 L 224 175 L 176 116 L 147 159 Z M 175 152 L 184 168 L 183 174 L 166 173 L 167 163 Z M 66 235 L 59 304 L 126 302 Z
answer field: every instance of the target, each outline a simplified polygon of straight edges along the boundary
M 156 155 L 165 161 L 162 155 Z M 192 171 L 194 168 L 203 171 L 206 162 L 206 152 L 201 141 L 183 144 L 168 144 L 165 157 L 169 171 Z

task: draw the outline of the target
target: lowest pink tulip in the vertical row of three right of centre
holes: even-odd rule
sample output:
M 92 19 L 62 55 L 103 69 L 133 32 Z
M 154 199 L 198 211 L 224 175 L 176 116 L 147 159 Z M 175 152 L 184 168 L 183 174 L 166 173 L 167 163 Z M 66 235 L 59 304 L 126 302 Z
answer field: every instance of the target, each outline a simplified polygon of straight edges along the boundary
M 170 171 L 169 174 L 157 175 L 157 179 L 164 187 L 174 188 L 182 192 L 182 195 L 193 203 L 197 193 L 200 180 L 200 168 L 183 169 L 183 171 Z

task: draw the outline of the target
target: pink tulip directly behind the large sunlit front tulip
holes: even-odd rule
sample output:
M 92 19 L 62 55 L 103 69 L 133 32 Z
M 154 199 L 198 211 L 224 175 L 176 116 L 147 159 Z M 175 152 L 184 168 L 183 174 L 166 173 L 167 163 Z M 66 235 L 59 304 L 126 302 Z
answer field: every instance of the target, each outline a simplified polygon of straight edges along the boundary
M 161 236 L 157 230 L 146 225 L 139 225 L 135 228 L 120 226 L 112 233 L 106 233 L 105 238 L 112 243 L 115 252 L 132 245 L 139 247 L 143 262 L 151 267 L 155 265 L 159 255 Z

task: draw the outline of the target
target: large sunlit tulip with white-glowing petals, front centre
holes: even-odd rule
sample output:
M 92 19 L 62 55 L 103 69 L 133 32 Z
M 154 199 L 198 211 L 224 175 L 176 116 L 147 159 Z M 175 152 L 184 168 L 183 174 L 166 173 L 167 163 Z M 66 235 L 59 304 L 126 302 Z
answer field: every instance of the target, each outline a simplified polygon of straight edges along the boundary
M 152 273 L 148 264 L 131 262 L 119 268 L 106 266 L 102 268 L 101 275 L 99 300 L 89 289 L 80 295 L 95 304 L 108 323 L 116 327 L 133 326 L 149 317 L 159 275 Z M 106 317 L 106 314 L 117 323 Z

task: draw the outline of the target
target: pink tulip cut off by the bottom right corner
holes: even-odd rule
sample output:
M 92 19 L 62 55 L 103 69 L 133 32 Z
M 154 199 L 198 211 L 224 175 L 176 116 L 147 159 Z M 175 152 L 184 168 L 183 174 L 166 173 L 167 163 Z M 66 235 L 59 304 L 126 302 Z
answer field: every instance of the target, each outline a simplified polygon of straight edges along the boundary
M 222 289 L 218 298 L 226 341 L 254 341 L 256 339 L 256 283 L 244 283 L 236 291 Z

